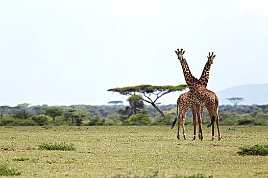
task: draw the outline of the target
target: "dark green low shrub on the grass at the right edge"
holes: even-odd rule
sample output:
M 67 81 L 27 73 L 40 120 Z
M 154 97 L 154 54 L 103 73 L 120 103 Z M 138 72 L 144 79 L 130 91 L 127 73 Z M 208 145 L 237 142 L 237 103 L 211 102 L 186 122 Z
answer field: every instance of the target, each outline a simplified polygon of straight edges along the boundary
M 260 156 L 268 156 L 268 144 L 259 145 L 255 144 L 254 146 L 240 146 L 238 155 L 260 155 Z

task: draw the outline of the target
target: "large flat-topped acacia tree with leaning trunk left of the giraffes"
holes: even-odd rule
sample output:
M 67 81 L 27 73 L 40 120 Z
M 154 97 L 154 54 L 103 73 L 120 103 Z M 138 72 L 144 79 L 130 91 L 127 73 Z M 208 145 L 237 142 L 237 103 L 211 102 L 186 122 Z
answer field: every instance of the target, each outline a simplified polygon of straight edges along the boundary
M 170 92 L 182 91 L 186 87 L 188 87 L 186 84 L 182 84 L 178 86 L 138 85 L 138 86 L 128 86 L 128 87 L 122 87 L 122 88 L 111 88 L 108 91 L 118 92 L 121 95 L 135 95 L 136 93 L 140 93 L 145 98 L 145 99 L 142 98 L 143 101 L 152 104 L 152 106 L 161 114 L 161 116 L 165 117 L 164 113 L 157 106 L 156 101 L 158 100 L 158 98 Z M 155 99 L 150 98 L 152 95 L 154 95 L 156 98 Z

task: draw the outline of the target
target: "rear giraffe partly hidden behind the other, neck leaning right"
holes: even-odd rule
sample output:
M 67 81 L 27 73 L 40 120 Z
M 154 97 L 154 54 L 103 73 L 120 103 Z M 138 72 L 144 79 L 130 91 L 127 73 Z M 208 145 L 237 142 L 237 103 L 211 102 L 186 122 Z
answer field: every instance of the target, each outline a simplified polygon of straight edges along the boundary
M 211 64 L 213 64 L 213 59 L 216 55 L 213 56 L 213 52 L 211 53 L 210 55 L 210 52 L 208 53 L 208 61 L 203 69 L 203 72 L 202 72 L 202 75 L 200 77 L 200 81 L 202 82 L 202 84 L 206 87 L 207 86 L 207 83 L 208 83 L 208 78 L 209 78 L 209 70 L 210 70 L 210 67 L 211 67 Z M 185 117 L 186 117 L 186 114 L 187 114 L 187 111 L 190 107 L 190 101 L 188 100 L 188 95 L 189 95 L 190 92 L 186 92 L 184 94 L 181 94 L 180 97 L 178 98 L 177 100 L 177 116 L 172 124 L 172 128 L 175 126 L 176 124 L 176 121 L 178 119 L 178 134 L 177 134 L 177 138 L 180 139 L 180 121 L 182 122 L 182 130 L 183 130 L 183 137 L 185 140 L 187 140 L 186 138 L 186 134 L 185 134 L 185 127 L 184 127 L 184 122 L 185 122 Z M 178 108 L 179 108 L 179 113 L 178 113 Z M 200 107 L 200 113 L 201 113 L 201 122 L 203 120 L 203 111 L 204 111 L 204 107 L 201 106 Z M 192 115 L 193 114 L 196 114 L 196 113 L 193 113 L 192 112 Z M 178 117 L 179 115 L 179 117 Z M 195 123 L 196 124 L 196 121 Z M 200 130 L 199 130 L 199 134 L 198 134 L 198 137 L 200 139 Z

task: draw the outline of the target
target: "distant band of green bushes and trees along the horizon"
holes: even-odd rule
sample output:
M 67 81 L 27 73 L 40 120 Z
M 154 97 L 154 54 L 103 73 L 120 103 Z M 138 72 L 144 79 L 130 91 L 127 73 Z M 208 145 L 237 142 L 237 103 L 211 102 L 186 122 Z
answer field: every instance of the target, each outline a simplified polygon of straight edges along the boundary
M 0 106 L 0 126 L 171 125 L 177 114 L 176 105 L 158 107 L 164 112 L 164 118 L 153 106 L 146 105 Z M 268 125 L 268 105 L 222 105 L 219 114 L 222 125 Z M 205 109 L 203 123 L 209 122 Z M 185 124 L 192 124 L 190 109 Z

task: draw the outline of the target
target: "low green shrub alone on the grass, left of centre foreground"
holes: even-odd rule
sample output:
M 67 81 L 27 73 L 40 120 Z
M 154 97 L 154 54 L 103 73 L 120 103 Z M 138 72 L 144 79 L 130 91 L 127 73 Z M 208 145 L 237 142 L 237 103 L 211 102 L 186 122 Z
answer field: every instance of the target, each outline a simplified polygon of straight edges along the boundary
M 76 147 L 74 144 L 66 144 L 65 142 L 56 143 L 56 142 L 49 142 L 49 143 L 41 143 L 38 145 L 39 150 L 60 150 L 60 151 L 76 151 Z

